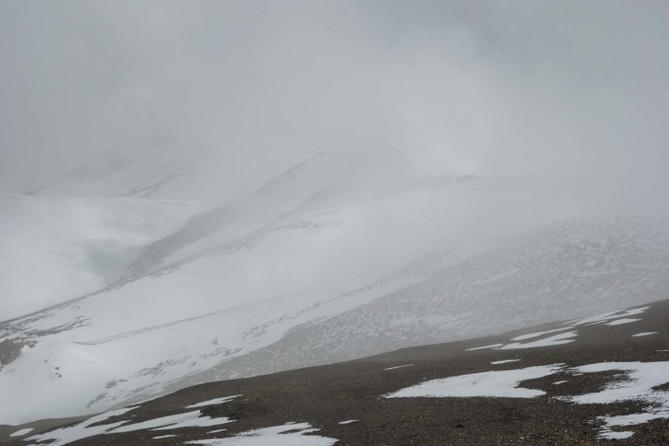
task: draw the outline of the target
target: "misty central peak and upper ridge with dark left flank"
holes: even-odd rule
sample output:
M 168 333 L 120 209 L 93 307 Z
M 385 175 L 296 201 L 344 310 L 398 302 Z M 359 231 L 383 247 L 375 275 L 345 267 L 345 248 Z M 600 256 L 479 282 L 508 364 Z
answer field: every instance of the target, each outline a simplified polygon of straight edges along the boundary
M 291 224 L 302 207 L 318 208 L 321 201 L 330 201 L 332 206 L 332 200 L 342 204 L 341 199 L 351 190 L 383 189 L 410 178 L 410 162 L 394 149 L 325 151 L 245 197 L 196 215 L 179 231 L 148 245 L 126 277 L 141 277 L 160 266 L 191 259 L 217 245 L 235 243 L 253 231 L 272 231 L 277 222 Z

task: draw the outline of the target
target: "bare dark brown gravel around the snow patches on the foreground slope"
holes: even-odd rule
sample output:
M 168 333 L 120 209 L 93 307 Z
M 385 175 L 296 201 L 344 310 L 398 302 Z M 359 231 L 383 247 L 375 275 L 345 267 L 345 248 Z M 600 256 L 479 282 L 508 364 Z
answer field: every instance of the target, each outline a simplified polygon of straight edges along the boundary
M 649 332 L 653 334 L 633 336 Z M 559 344 L 560 341 L 564 344 Z M 528 343 L 548 345 L 532 347 Z M 493 344 L 501 345 L 468 350 Z M 491 364 L 498 361 L 505 362 Z M 75 425 L 72 429 L 88 434 L 93 432 L 92 429 L 110 431 L 112 428 L 107 429 L 105 424 L 129 420 L 119 424 L 129 431 L 98 433 L 70 444 L 182 445 L 195 440 L 211 440 L 207 444 L 272 446 L 282 444 L 282 440 L 291 445 L 326 445 L 333 444 L 334 440 L 338 440 L 337 445 L 669 444 L 669 415 L 637 426 L 608 429 L 614 436 L 620 435 L 620 431 L 633 433 L 629 438 L 602 438 L 607 430 L 603 429 L 603 420 L 598 417 L 654 410 L 649 408 L 647 401 L 636 398 L 594 404 L 564 401 L 569 396 L 599 392 L 615 383 L 631 382 L 630 375 L 622 371 L 577 374 L 573 369 L 611 361 L 669 362 L 669 300 L 583 321 L 549 323 L 493 337 L 405 348 L 362 360 L 197 385 L 142 403 L 123 415 L 109 417 L 98 424 L 91 423 L 87 428 Z M 383 397 L 429 380 L 558 363 L 565 365 L 554 374 L 518 384 L 518 387 L 545 392 L 534 398 Z M 566 382 L 555 384 L 562 380 Z M 669 375 L 666 380 L 669 382 Z M 667 387 L 667 383 L 661 383 L 649 392 L 666 397 Z M 200 410 L 196 413 L 199 423 L 208 420 L 206 417 L 221 420 L 227 417 L 230 420 L 226 422 L 160 431 L 132 427 L 140 422 L 146 426 L 148 422 L 155 429 L 169 423 L 151 420 L 188 413 L 194 408 L 186 406 L 234 395 L 239 396 L 197 409 Z M 347 420 L 357 421 L 339 424 Z M 288 422 L 297 424 L 294 428 L 284 426 Z M 309 432 L 302 423 L 319 430 Z M 8 445 L 47 444 L 45 438 L 48 435 L 32 440 L 18 437 L 10 441 L 6 436 L 22 428 L 36 427 L 24 436 L 30 438 L 44 426 L 45 422 L 34 426 L 6 426 L 1 428 L 0 434 L 5 435 Z M 251 430 L 271 426 L 283 426 L 278 430 L 283 429 L 284 433 L 272 436 L 266 430 L 256 432 L 256 436 L 245 435 Z M 210 433 L 219 429 L 225 430 Z M 62 436 L 54 432 L 52 437 L 59 438 L 59 435 Z M 158 436 L 162 438 L 155 438 Z M 217 438 L 220 440 L 215 441 Z

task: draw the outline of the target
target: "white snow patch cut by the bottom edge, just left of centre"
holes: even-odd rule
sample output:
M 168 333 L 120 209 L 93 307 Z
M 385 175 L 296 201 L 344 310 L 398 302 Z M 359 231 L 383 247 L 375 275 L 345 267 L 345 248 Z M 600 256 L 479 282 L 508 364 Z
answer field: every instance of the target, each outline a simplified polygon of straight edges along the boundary
M 316 432 L 309 423 L 283 424 L 238 433 L 227 438 L 187 441 L 190 445 L 210 446 L 332 446 L 335 438 L 305 435 Z M 296 432 L 293 432 L 296 431 Z

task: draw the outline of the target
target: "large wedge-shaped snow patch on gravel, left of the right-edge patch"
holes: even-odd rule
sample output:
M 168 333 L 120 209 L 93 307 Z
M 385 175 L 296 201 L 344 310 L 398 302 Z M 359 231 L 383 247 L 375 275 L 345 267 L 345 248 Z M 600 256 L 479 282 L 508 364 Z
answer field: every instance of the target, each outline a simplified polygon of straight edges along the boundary
M 505 397 L 532 398 L 543 390 L 525 389 L 518 385 L 528 379 L 542 378 L 562 370 L 562 364 L 526 367 L 516 370 L 484 371 L 478 374 L 451 376 L 429 380 L 386 394 L 385 398 L 412 397 Z

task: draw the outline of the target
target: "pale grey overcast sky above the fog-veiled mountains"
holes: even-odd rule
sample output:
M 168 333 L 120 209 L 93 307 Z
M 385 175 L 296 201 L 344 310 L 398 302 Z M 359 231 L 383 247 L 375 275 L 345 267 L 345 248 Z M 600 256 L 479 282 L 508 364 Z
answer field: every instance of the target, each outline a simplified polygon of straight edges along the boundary
M 0 186 L 151 135 L 239 190 L 388 144 L 429 171 L 658 194 L 668 23 L 662 0 L 0 0 Z

